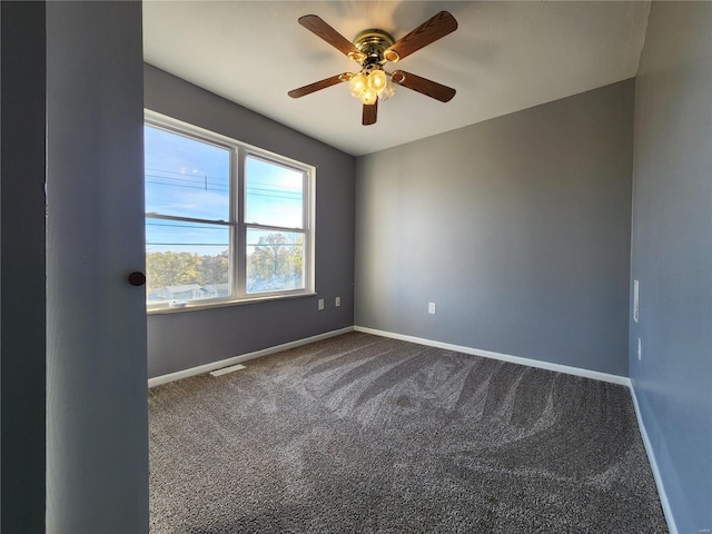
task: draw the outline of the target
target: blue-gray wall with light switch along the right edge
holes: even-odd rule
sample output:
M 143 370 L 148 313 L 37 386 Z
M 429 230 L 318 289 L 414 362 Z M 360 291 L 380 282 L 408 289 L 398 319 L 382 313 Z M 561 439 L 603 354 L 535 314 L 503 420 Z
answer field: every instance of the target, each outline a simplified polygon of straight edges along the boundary
M 712 528 L 711 3 L 653 2 L 633 187 L 641 307 L 631 380 L 678 528 L 703 532 Z

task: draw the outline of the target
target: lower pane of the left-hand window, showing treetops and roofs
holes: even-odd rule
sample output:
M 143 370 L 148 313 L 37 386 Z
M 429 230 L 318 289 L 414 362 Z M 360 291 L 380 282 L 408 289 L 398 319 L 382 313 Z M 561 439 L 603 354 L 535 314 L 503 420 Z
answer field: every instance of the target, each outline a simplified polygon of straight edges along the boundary
M 229 296 L 229 244 L 226 226 L 147 218 L 147 300 Z

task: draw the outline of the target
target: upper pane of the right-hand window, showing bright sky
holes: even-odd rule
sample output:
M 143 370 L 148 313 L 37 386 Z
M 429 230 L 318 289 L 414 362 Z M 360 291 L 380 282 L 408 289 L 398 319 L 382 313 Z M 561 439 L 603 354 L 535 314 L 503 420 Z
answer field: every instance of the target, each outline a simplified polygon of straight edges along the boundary
M 248 157 L 245 177 L 245 222 L 304 228 L 304 174 Z

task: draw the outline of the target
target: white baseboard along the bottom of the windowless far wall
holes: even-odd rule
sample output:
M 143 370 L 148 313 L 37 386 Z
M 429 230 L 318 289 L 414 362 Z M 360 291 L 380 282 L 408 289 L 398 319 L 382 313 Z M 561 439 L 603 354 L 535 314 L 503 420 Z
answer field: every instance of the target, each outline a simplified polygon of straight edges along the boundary
M 392 337 L 394 339 L 400 339 L 403 342 L 417 343 L 418 345 L 427 345 L 431 347 L 445 348 L 447 350 L 456 350 L 458 353 L 472 354 L 474 356 L 482 356 L 484 358 L 501 359 L 503 362 L 510 362 L 517 365 L 527 365 L 530 367 L 537 367 L 540 369 L 555 370 L 557 373 L 565 373 L 567 375 L 583 376 L 584 378 L 593 378 L 594 380 L 610 382 L 612 384 L 631 387 L 630 378 L 620 375 L 610 375 L 607 373 L 601 373 L 599 370 L 583 369 L 581 367 L 571 367 L 568 365 L 561 364 L 552 364 L 550 362 L 542 362 L 541 359 L 523 358 L 521 356 L 493 353 L 492 350 L 482 350 L 478 348 L 464 347 L 462 345 L 434 342 L 432 339 L 424 339 L 422 337 L 405 336 L 403 334 L 376 330 L 374 328 L 366 328 L 363 326 L 354 326 L 354 330 L 363 332 L 365 334 L 373 334 L 375 336 Z

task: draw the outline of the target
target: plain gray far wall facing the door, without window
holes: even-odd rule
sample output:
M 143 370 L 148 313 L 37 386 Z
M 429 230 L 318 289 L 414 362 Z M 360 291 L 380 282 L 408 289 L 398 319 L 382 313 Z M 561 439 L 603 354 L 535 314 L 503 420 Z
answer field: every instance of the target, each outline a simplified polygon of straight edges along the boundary
M 358 158 L 356 325 L 626 376 L 633 95 Z

